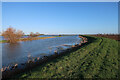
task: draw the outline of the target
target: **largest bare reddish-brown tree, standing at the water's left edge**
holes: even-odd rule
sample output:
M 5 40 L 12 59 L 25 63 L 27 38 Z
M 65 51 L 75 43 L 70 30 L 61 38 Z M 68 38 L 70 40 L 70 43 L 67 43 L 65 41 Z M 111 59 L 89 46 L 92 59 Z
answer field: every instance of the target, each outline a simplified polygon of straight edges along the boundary
M 2 36 L 8 40 L 9 43 L 16 43 L 23 35 L 23 31 L 16 30 L 12 27 L 7 28 L 6 31 L 2 33 Z

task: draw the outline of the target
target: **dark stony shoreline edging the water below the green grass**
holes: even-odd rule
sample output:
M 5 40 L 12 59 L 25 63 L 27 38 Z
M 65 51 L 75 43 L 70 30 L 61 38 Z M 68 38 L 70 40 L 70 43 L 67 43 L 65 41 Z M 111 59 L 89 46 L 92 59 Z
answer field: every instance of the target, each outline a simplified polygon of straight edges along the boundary
M 31 68 L 34 68 L 40 64 L 43 64 L 47 61 L 53 60 L 59 56 L 64 55 L 65 53 L 71 52 L 71 51 L 75 51 L 76 49 L 79 49 L 81 46 L 83 46 L 85 43 L 87 43 L 87 38 L 79 36 L 79 38 L 82 38 L 83 41 L 81 41 L 79 44 L 77 45 L 73 45 L 71 48 L 66 49 L 60 53 L 58 53 L 57 51 L 54 52 L 53 55 L 50 56 L 43 56 L 43 58 L 35 58 L 34 60 L 30 60 L 26 63 L 22 63 L 20 64 L 15 64 L 14 66 L 12 66 L 11 68 L 9 67 L 5 67 L 2 68 L 2 76 L 3 78 L 9 78 L 11 76 L 14 76 L 15 74 L 19 74 L 21 72 L 25 72 L 26 70 L 30 70 Z M 18 68 L 19 66 L 22 66 L 23 68 Z

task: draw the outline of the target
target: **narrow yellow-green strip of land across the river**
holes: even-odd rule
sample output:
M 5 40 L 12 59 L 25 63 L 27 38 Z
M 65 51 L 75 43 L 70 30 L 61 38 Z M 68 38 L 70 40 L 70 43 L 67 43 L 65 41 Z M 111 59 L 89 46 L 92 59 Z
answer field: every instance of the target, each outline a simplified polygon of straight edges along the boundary
M 48 39 L 48 38 L 56 38 L 61 36 L 51 36 L 51 37 L 30 37 L 30 38 L 20 38 L 17 41 L 32 41 L 32 40 L 39 40 L 39 39 Z M 0 43 L 7 43 L 7 40 L 2 40 Z

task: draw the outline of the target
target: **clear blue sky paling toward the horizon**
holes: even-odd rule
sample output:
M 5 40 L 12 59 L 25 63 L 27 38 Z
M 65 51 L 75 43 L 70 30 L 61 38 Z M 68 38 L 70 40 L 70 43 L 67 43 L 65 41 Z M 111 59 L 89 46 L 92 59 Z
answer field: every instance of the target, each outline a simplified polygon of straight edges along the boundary
M 3 2 L 2 28 L 26 34 L 118 33 L 117 2 Z

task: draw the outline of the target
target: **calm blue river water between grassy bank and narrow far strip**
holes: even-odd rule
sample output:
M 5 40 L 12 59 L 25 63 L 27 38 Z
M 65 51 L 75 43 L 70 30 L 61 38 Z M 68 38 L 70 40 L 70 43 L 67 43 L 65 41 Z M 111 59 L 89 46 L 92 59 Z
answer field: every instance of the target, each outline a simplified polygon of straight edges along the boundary
M 64 36 L 49 39 L 19 42 L 17 44 L 0 43 L 2 45 L 2 66 L 24 63 L 28 55 L 42 57 L 51 55 L 55 50 L 61 51 L 80 43 L 78 36 Z M 68 46 L 64 46 L 64 44 Z M 1 55 L 1 54 L 0 54 Z

